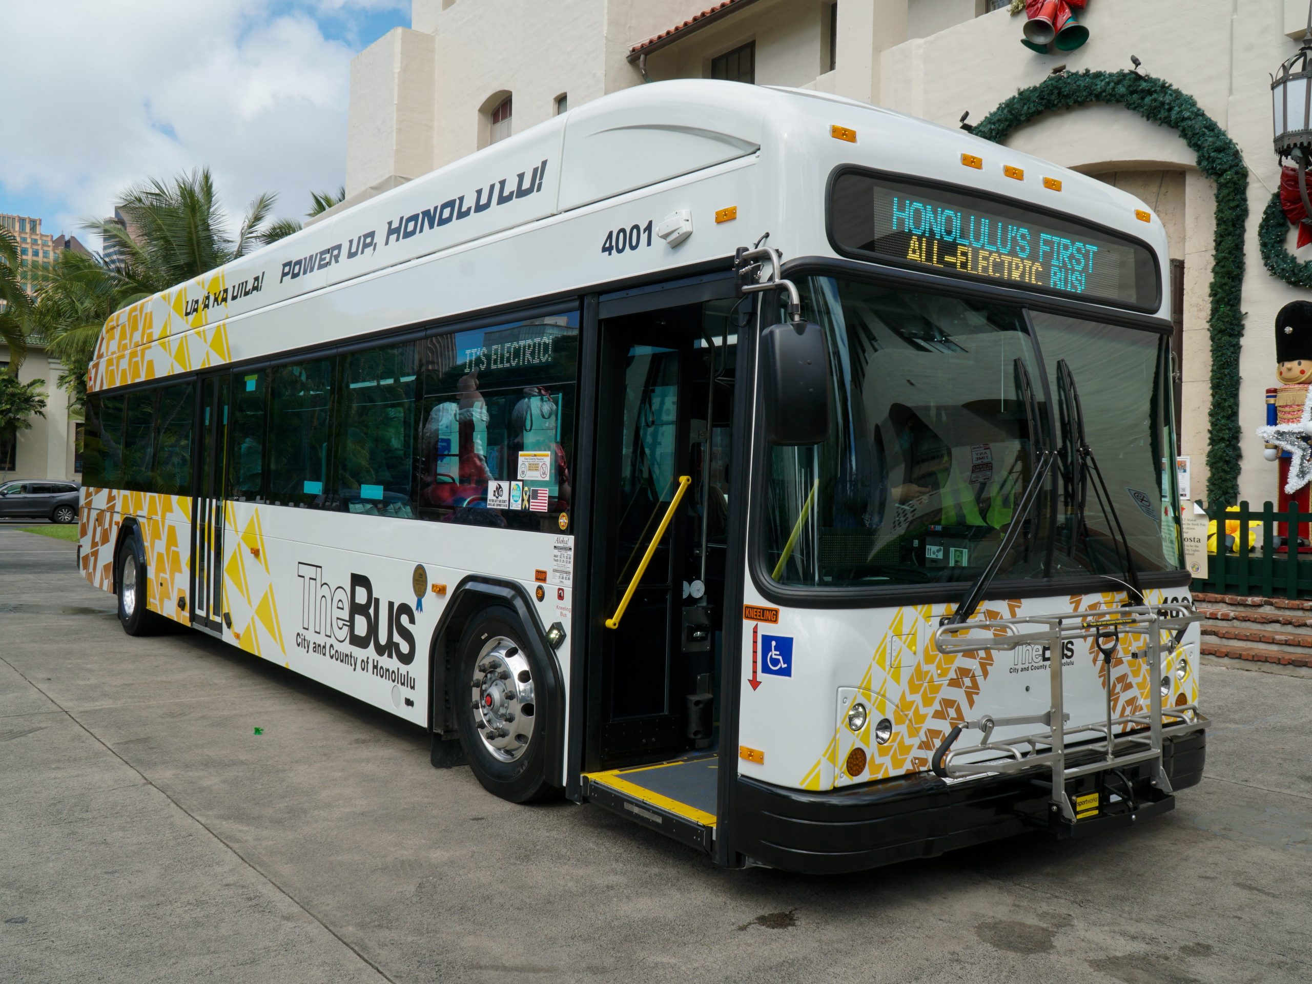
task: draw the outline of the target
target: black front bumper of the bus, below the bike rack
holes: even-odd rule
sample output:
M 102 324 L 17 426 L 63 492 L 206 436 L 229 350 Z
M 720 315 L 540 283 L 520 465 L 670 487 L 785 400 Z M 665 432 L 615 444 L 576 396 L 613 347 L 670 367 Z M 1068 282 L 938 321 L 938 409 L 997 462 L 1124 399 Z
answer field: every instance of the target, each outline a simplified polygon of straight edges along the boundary
M 1162 766 L 1174 791 L 1203 777 L 1207 732 L 1162 745 Z M 1148 765 L 1124 770 L 1141 806 L 1077 824 L 1075 832 L 1128 825 L 1174 806 L 1152 795 Z M 1010 837 L 1043 825 L 1050 791 L 1033 775 L 945 782 L 932 773 L 807 792 L 740 777 L 735 848 L 748 863 L 806 874 L 842 874 L 932 858 L 958 848 Z

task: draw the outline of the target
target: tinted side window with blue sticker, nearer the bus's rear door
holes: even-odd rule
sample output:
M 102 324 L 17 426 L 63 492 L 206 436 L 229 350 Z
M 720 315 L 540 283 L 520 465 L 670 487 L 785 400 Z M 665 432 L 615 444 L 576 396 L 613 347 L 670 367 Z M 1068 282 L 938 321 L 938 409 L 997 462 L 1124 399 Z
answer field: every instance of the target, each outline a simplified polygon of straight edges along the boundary
M 332 446 L 333 359 L 273 371 L 269 409 L 269 501 L 323 505 Z

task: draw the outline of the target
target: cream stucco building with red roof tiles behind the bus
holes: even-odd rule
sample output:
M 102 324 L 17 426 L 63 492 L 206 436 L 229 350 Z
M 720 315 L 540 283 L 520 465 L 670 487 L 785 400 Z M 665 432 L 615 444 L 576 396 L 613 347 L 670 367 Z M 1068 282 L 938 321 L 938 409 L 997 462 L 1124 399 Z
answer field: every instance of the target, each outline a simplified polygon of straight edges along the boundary
M 711 7 L 706 0 L 412 0 L 412 28 L 392 30 L 352 63 L 346 205 L 562 108 L 647 80 L 811 88 L 956 126 L 962 113 L 979 121 L 1055 71 L 1130 70 L 1134 55 L 1140 71 L 1191 94 L 1249 167 L 1240 496 L 1274 500 L 1275 470 L 1262 459 L 1254 430 L 1265 422 L 1265 390 L 1274 384 L 1274 316 L 1300 291 L 1263 268 L 1257 226 L 1279 180 L 1269 76 L 1298 50 L 1305 0 L 1089 0 L 1078 10 L 1088 42 L 1055 54 L 1023 47 L 1025 17 L 1008 7 L 1005 0 Z M 1212 182 L 1174 130 L 1118 106 L 1048 113 L 1008 144 L 1124 188 L 1165 223 L 1181 354 L 1181 451 L 1191 459 L 1191 491 L 1200 496 L 1211 399 Z

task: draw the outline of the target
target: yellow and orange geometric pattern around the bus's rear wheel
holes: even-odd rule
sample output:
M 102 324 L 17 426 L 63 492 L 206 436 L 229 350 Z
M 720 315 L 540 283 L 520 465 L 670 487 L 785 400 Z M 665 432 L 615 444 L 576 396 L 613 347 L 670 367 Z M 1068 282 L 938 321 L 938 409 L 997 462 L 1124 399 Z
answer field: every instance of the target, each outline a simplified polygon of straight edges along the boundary
M 188 496 L 84 488 L 79 526 L 83 576 L 102 590 L 114 590 L 114 548 L 127 517 L 136 520 L 146 551 L 146 606 L 189 625 L 185 602 L 192 576 L 192 500 Z

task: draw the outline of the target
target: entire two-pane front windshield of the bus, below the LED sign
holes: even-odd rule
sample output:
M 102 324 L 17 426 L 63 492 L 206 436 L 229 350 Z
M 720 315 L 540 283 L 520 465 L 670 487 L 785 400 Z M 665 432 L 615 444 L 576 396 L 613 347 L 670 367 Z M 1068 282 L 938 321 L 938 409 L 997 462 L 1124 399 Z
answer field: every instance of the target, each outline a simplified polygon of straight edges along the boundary
M 970 583 L 1044 450 L 1002 580 L 1181 565 L 1165 338 L 1021 307 L 813 277 L 829 437 L 768 450 L 764 565 L 790 586 Z M 1122 538 L 1123 531 L 1123 538 Z

